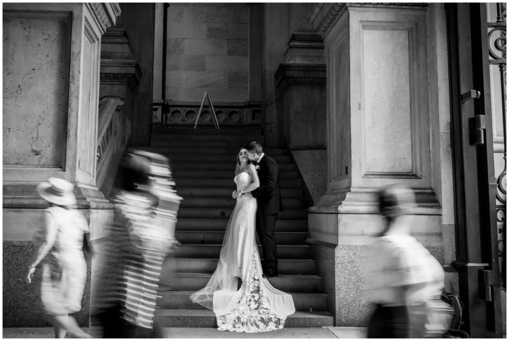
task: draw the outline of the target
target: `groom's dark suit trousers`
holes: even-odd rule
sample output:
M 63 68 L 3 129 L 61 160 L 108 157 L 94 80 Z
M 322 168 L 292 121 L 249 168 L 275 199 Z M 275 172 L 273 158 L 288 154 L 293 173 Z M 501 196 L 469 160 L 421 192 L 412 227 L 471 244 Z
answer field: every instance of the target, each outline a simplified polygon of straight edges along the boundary
M 263 272 L 277 274 L 277 245 L 274 233 L 277 213 L 263 215 L 257 212 L 256 230 L 262 244 Z

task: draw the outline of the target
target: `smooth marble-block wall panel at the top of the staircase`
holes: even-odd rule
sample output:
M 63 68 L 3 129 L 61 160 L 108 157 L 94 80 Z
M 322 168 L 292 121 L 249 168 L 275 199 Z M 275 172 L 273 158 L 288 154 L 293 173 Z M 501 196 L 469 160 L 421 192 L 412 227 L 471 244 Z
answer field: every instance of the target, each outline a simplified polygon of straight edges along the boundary
M 165 99 L 199 102 L 209 91 L 215 102 L 246 101 L 248 16 L 244 4 L 172 4 Z

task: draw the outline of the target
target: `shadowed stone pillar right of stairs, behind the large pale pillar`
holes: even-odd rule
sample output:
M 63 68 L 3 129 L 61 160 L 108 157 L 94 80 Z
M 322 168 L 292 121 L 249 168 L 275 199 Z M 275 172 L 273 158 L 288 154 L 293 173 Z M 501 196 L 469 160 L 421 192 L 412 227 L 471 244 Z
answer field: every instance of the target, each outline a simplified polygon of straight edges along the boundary
M 314 201 L 327 188 L 327 117 L 323 41 L 295 32 L 275 75 L 284 96 L 284 135 Z

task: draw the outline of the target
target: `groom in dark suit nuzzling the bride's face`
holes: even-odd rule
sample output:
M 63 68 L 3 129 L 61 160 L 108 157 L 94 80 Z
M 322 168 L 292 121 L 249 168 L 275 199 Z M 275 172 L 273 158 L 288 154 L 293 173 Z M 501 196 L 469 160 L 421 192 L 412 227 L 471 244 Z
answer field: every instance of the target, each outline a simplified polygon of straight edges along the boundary
M 277 250 L 274 227 L 277 213 L 282 211 L 281 190 L 277 163 L 264 154 L 262 146 L 252 141 L 244 146 L 249 161 L 254 161 L 260 178 L 260 187 L 251 193 L 258 202 L 256 230 L 262 244 L 262 269 L 265 277 L 275 277 L 277 273 Z

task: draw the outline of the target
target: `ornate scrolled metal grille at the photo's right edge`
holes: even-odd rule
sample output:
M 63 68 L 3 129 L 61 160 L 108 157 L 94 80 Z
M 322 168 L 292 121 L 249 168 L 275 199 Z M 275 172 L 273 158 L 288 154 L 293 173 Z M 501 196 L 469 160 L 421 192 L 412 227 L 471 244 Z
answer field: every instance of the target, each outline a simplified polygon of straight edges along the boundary
M 502 272 L 502 281 L 505 286 L 506 281 L 506 253 L 505 253 L 505 203 L 506 203 L 506 140 L 505 140 L 505 100 L 506 100 L 506 3 L 497 4 L 497 20 L 496 22 L 488 22 L 488 42 L 490 49 L 489 62 L 491 65 L 497 65 L 500 71 L 500 87 L 502 101 L 502 124 L 503 124 L 503 143 L 504 143 L 504 169 L 497 178 L 497 225 L 498 225 L 498 257 L 500 269 Z

